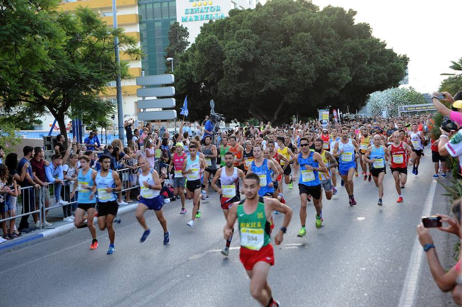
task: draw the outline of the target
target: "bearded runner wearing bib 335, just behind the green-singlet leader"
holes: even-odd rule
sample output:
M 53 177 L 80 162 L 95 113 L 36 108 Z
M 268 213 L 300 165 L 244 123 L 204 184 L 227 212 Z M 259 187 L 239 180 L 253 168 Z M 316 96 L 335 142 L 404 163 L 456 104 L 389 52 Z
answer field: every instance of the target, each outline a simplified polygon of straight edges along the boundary
M 227 152 L 224 157 L 226 166 L 217 171 L 214 180 L 211 182 L 211 187 L 220 194 L 221 209 L 225 219 L 228 218 L 229 208 L 234 201 L 241 200 L 239 195 L 239 178 L 244 179 L 244 172 L 233 166 L 234 155 L 232 152 Z M 217 181 L 220 180 L 220 187 L 217 186 Z M 234 228 L 231 236 L 226 240 L 225 248 L 221 251 L 226 257 L 229 255 L 229 245 L 233 239 Z

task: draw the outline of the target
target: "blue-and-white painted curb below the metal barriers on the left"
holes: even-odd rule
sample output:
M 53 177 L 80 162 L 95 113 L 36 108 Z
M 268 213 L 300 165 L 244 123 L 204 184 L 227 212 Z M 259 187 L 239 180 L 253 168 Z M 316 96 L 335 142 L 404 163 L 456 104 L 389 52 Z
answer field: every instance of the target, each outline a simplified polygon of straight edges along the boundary
M 117 214 L 119 215 L 119 214 L 124 214 L 130 211 L 134 211 L 136 210 L 137 206 L 138 206 L 138 203 L 133 203 L 127 206 L 123 206 L 119 208 Z M 95 217 L 94 218 L 95 223 L 97 222 L 97 220 L 98 218 Z M 77 229 L 74 226 L 74 224 L 68 223 L 63 226 L 45 230 L 41 233 L 36 233 L 36 234 L 32 234 L 24 238 L 18 238 L 18 239 L 14 239 L 8 242 L 4 242 L 0 244 L 0 253 L 5 252 L 6 250 L 9 250 L 9 249 L 17 248 L 20 245 L 26 245 L 26 244 L 36 243 L 36 242 L 44 241 L 47 239 L 55 238 L 55 237 L 64 235 L 66 233 L 69 233 L 74 229 Z

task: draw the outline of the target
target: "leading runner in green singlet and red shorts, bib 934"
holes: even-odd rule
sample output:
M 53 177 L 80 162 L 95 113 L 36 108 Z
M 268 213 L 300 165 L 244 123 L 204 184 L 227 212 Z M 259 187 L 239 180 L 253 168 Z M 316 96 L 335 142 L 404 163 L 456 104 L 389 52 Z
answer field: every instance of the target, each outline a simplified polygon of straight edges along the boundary
M 259 147 L 259 151 L 261 154 L 261 147 Z M 252 163 L 254 164 L 254 162 Z M 274 265 L 269 220 L 274 210 L 284 213 L 282 227 L 275 236 L 275 244 L 279 245 L 291 221 L 292 210 L 276 199 L 259 197 L 257 193 L 259 187 L 261 187 L 261 182 L 258 175 L 249 173 L 245 176 L 244 192 L 246 199 L 235 202 L 230 208 L 223 233 L 224 238 L 228 240 L 233 235 L 234 223 L 236 219 L 238 220 L 241 236 L 239 258 L 251 279 L 251 294 L 262 306 L 280 306 L 280 303 L 273 299 L 271 288 L 267 282 L 269 267 Z

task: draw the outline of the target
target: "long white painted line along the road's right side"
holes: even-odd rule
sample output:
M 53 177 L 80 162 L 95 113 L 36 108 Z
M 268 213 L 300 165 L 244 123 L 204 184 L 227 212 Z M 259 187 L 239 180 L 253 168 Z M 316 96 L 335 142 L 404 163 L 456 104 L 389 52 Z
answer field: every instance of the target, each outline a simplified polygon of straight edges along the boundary
M 431 214 L 435 191 L 436 182 L 433 181 L 430 183 L 430 190 L 428 191 L 424 210 L 422 211 L 422 216 L 428 216 Z M 416 236 L 414 241 L 414 248 L 412 249 L 411 260 L 409 262 L 408 271 L 406 273 L 406 279 L 402 288 L 401 297 L 399 299 L 399 307 L 411 307 L 414 305 L 415 297 L 417 295 L 420 264 L 422 263 L 423 255 L 424 252 L 420 246 L 419 237 Z

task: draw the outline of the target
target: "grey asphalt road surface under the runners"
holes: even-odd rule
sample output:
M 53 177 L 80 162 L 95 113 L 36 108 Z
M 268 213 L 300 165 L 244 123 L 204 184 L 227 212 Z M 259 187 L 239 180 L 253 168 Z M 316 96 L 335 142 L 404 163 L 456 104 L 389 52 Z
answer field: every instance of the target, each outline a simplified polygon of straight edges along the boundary
M 437 289 L 425 255 L 417 278 L 408 274 L 415 228 L 426 202 L 432 213 L 448 212 L 432 170 L 431 154 L 426 154 L 419 176 L 410 175 L 402 203 L 395 202 L 397 193 L 387 170 L 383 207 L 377 206 L 373 182 L 354 179 L 358 202 L 354 207 L 338 182 L 339 193 L 323 202 L 321 229 L 315 228 L 315 210 L 309 206 L 303 238 L 296 236 L 298 188 L 285 186 L 294 215 L 283 243 L 275 246 L 276 264 L 269 272 L 274 297 L 283 306 L 397 306 L 408 280 L 415 283 L 408 291 L 414 305 L 451 305 L 450 295 Z M 432 186 L 436 186 L 434 199 Z M 233 238 L 229 258 L 220 253 L 224 218 L 217 194 L 212 192 L 209 201 L 202 201 L 202 218 L 194 228 L 186 225 L 190 203 L 186 215 L 179 214 L 180 201 L 164 206 L 171 233 L 167 246 L 162 244 L 163 232 L 153 212 L 145 215 L 151 235 L 140 243 L 142 229 L 133 212 L 122 215 L 122 223 L 115 225 L 113 255 L 106 255 L 106 232 L 98 231 L 100 247 L 89 250 L 87 229 L 0 254 L 1 305 L 257 306 L 239 261 L 239 237 Z M 275 216 L 276 229 L 282 218 Z M 432 232 L 440 258 L 453 265 L 448 246 L 454 238 Z

